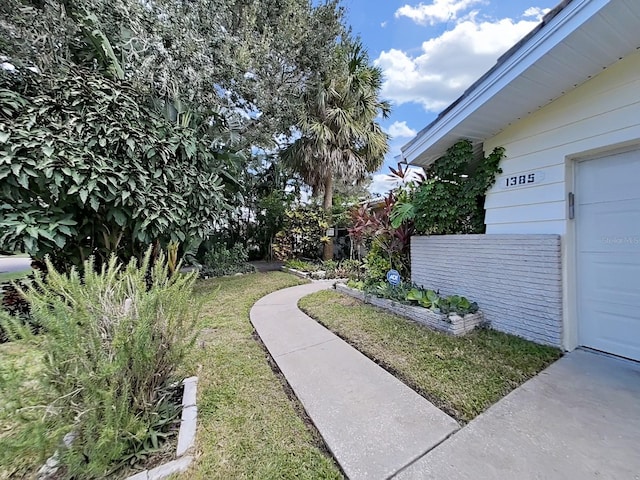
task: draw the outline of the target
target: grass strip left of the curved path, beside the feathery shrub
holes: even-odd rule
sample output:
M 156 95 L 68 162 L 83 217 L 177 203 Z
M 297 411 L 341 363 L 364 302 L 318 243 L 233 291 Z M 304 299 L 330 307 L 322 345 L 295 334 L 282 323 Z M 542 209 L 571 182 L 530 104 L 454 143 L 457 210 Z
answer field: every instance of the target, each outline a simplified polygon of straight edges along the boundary
M 287 397 L 249 321 L 259 298 L 300 283 L 270 272 L 198 284 L 197 294 L 207 299 L 204 330 L 186 368 L 200 379 L 197 459 L 184 478 L 342 477 L 305 425 L 301 407 Z

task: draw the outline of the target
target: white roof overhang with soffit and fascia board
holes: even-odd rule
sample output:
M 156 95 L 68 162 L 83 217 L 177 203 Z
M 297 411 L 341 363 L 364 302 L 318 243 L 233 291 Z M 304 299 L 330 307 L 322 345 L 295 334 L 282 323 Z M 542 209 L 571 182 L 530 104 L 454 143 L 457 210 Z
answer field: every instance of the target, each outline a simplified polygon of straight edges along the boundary
M 402 147 L 403 157 L 428 166 L 460 139 L 482 143 L 639 48 L 640 0 L 573 0 Z

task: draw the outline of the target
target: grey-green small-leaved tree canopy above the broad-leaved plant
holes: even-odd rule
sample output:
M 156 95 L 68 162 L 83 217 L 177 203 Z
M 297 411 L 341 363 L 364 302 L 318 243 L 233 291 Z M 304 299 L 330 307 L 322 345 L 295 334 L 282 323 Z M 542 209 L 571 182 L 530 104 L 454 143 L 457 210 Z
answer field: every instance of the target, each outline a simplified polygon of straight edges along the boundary
M 338 0 L 0 2 L 0 55 L 43 72 L 102 68 L 163 100 L 241 110 L 247 145 L 289 133 L 344 30 Z

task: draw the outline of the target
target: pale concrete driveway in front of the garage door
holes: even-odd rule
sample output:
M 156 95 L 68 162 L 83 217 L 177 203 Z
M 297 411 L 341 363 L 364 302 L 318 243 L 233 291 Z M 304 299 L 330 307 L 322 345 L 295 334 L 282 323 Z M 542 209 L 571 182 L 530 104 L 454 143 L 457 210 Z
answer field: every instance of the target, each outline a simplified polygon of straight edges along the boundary
M 640 479 L 640 363 L 565 355 L 397 479 Z

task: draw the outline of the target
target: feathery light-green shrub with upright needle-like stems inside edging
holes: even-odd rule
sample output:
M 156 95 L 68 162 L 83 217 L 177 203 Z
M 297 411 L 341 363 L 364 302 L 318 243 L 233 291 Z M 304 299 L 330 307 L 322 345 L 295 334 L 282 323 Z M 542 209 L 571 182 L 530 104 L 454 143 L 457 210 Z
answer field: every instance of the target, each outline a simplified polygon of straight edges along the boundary
M 35 288 L 23 292 L 47 331 L 38 379 L 47 405 L 27 425 L 32 438 L 46 434 L 54 445 L 73 432 L 61 455 L 69 478 L 104 478 L 144 456 L 178 413 L 169 386 L 196 336 L 195 274 L 170 275 L 163 255 L 153 265 L 150 256 L 126 266 L 112 257 L 100 271 L 90 259 L 83 277 L 49 262 L 46 279 L 36 273 Z M 17 323 L 7 325 L 12 319 L 4 327 L 28 337 Z M 12 405 L 20 410 L 21 399 Z M 25 435 L 4 438 L 0 458 L 15 455 Z

